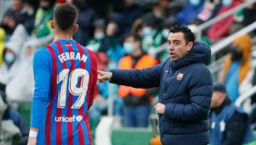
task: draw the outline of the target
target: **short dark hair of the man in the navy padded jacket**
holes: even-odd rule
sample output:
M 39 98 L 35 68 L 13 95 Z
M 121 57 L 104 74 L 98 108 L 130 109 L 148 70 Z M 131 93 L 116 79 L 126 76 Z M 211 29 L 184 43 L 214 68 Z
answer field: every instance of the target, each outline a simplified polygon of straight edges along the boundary
M 172 33 L 182 32 L 184 34 L 184 39 L 187 43 L 189 41 L 194 42 L 194 34 L 188 27 L 183 27 L 179 24 L 176 24 L 170 28 L 170 32 Z

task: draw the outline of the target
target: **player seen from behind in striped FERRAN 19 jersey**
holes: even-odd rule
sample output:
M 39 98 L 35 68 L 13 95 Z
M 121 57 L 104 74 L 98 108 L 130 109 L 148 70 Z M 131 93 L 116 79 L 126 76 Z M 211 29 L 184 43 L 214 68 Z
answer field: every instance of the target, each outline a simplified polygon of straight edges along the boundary
M 33 56 L 35 90 L 28 145 L 92 144 L 88 109 L 96 92 L 97 60 L 73 40 L 78 11 L 56 7 L 54 40 Z

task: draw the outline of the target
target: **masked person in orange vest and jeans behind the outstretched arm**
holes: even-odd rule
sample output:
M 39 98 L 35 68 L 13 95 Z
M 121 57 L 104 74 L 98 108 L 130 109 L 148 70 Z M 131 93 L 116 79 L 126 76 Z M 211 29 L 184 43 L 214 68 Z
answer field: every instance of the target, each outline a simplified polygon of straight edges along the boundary
M 123 44 L 128 54 L 119 60 L 120 69 L 143 69 L 158 64 L 158 60 L 143 53 L 141 38 L 128 35 Z M 135 89 L 120 85 L 118 96 L 123 98 L 123 125 L 125 127 L 148 127 L 148 119 L 153 99 L 152 89 Z

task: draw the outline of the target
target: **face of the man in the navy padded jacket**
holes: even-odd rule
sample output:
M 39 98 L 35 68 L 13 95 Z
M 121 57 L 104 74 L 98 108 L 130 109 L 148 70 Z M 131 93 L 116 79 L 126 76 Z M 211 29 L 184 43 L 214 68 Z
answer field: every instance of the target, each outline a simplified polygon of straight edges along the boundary
M 179 60 L 188 54 L 193 47 L 193 42 L 184 39 L 183 32 L 170 32 L 168 36 L 168 50 L 171 60 Z

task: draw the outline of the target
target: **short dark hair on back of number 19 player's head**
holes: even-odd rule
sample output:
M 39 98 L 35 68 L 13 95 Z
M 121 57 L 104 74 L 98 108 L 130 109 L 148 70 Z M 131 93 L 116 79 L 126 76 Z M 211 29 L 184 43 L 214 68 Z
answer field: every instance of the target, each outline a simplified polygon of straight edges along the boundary
M 72 4 L 61 4 L 54 11 L 54 20 L 62 31 L 68 31 L 78 21 L 78 10 Z

